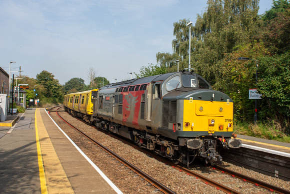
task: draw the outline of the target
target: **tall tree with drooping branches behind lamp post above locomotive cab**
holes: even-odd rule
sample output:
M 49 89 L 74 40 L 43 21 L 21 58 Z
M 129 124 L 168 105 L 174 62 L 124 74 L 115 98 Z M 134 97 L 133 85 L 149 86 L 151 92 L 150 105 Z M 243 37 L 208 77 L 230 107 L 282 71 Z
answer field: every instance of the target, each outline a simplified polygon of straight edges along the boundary
M 208 0 L 206 10 L 197 15 L 191 30 L 190 64 L 195 72 L 214 84 L 219 61 L 231 53 L 237 45 L 253 42 L 253 35 L 260 25 L 258 0 Z M 157 53 L 161 67 L 170 67 L 172 59 L 179 60 L 179 66 L 188 66 L 189 20 L 174 23 L 172 41 L 173 54 Z

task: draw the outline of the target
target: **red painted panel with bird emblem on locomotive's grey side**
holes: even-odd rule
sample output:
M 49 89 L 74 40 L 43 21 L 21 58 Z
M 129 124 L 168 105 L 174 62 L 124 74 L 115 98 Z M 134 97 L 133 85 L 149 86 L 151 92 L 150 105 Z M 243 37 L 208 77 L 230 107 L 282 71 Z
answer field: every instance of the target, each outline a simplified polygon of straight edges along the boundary
M 138 116 L 141 104 L 141 96 L 144 91 L 123 92 L 123 125 L 132 124 L 134 128 L 140 129 L 138 124 Z M 133 114 L 133 115 L 130 115 Z M 132 119 L 132 123 L 128 123 L 128 118 Z

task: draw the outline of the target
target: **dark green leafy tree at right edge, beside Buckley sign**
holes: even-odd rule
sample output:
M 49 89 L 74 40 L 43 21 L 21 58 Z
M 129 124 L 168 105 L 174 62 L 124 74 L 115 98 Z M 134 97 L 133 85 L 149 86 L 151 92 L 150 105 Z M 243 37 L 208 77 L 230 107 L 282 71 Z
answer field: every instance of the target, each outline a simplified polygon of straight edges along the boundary
M 258 92 L 262 94 L 260 116 L 275 120 L 290 134 L 290 52 L 259 59 Z

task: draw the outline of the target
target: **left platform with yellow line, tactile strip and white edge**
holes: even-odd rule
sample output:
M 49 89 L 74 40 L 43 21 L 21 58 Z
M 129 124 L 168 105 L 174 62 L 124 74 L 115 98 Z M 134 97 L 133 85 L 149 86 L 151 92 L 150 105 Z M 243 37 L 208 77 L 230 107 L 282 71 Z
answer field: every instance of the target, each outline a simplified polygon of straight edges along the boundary
M 121 193 L 45 109 L 15 116 L 0 126 L 1 193 Z

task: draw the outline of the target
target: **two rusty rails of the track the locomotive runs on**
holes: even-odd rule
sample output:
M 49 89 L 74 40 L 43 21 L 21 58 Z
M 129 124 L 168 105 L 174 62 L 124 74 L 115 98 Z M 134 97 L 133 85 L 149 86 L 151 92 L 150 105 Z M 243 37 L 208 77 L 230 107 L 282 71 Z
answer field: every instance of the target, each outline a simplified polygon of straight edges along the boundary
M 82 120 L 80 120 L 80 121 L 82 121 Z M 102 130 L 100 130 L 100 131 L 102 131 Z M 153 155 L 151 152 L 149 152 L 147 150 L 138 148 L 135 144 L 131 144 L 131 143 L 127 142 L 126 140 L 123 140 L 122 138 L 119 138 L 119 137 L 117 137 L 115 135 L 112 135 L 112 134 L 110 134 L 110 136 L 113 136 L 114 138 L 116 138 L 116 139 L 118 139 L 118 140 L 120 140 L 120 141 L 122 141 L 122 142 L 124 142 L 126 144 L 129 144 L 130 146 L 133 146 L 136 149 L 141 150 L 143 153 L 146 153 L 147 155 L 150 155 L 151 157 L 157 158 L 158 160 L 162 161 L 163 163 L 166 163 L 167 165 L 171 165 L 173 168 L 176 168 L 180 172 L 184 172 L 187 175 L 196 177 L 196 179 L 200 179 L 205 184 L 211 185 L 211 186 L 215 187 L 217 190 L 222 190 L 222 191 L 224 191 L 226 193 L 243 193 L 243 192 L 236 191 L 233 188 L 227 187 L 227 186 L 223 185 L 222 183 L 213 181 L 212 178 L 205 177 L 205 176 L 200 175 L 200 174 L 198 174 L 196 172 L 193 172 L 190 169 L 187 169 L 187 168 L 184 168 L 182 166 L 179 166 L 179 165 L 175 165 L 173 163 L 170 163 L 168 160 L 166 160 L 166 159 L 164 159 L 162 157 L 158 157 L 156 155 Z M 275 192 L 275 193 L 289 193 L 289 191 L 286 190 L 286 189 L 283 189 L 283 188 L 280 188 L 280 187 L 277 187 L 277 186 L 268 184 L 266 182 L 262 182 L 262 181 L 260 181 L 258 179 L 254 179 L 254 178 L 251 178 L 251 177 L 242 175 L 240 173 L 231 171 L 231 170 L 226 169 L 226 168 L 222 168 L 222 167 L 219 167 L 219 166 L 214 166 L 214 167 L 208 166 L 208 168 L 213 169 L 213 170 L 218 170 L 218 171 L 220 171 L 223 174 L 228 174 L 229 176 L 231 176 L 230 178 L 232 178 L 232 177 L 234 177 L 234 178 L 240 178 L 242 180 L 241 182 L 244 182 L 244 183 L 252 183 L 252 185 L 255 186 L 255 187 L 258 187 L 258 186 L 263 187 L 263 188 L 267 189 L 269 193 L 270 192 Z

